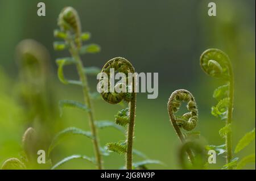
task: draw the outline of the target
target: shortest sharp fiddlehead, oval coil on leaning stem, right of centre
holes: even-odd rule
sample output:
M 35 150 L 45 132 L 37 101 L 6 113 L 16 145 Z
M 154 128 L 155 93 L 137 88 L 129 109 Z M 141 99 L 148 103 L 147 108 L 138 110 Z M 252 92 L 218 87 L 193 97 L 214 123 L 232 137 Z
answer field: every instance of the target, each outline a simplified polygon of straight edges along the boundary
M 179 110 L 181 102 L 188 102 L 187 109 L 189 112 L 184 113 L 182 116 L 175 116 L 174 113 Z M 187 90 L 176 90 L 172 92 L 168 100 L 167 107 L 172 126 L 174 127 L 180 141 L 184 144 L 185 137 L 180 128 L 183 128 L 186 131 L 192 131 L 192 129 L 196 127 L 198 121 L 198 110 L 195 98 L 191 92 Z M 194 156 L 191 149 L 186 149 L 186 151 L 190 161 L 193 163 Z

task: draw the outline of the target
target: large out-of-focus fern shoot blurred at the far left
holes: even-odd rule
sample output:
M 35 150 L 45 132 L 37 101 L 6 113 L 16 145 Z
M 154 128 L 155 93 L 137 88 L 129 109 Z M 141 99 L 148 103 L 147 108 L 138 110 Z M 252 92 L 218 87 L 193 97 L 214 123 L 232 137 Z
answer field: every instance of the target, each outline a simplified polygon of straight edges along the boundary
M 15 90 L 26 112 L 27 127 L 34 127 L 42 137 L 42 148 L 46 149 L 52 137 L 56 109 L 51 91 L 51 66 L 46 47 L 38 41 L 25 39 L 16 47 L 16 63 L 19 83 Z M 49 129 L 51 128 L 51 129 Z

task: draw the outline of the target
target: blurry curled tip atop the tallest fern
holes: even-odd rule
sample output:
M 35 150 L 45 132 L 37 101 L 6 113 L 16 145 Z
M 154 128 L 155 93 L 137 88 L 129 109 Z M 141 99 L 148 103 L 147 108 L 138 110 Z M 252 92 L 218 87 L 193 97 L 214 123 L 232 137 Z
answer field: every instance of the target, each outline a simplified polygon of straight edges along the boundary
M 77 47 L 81 47 L 81 22 L 77 11 L 73 7 L 65 7 L 60 12 L 57 23 L 63 31 L 75 33 Z

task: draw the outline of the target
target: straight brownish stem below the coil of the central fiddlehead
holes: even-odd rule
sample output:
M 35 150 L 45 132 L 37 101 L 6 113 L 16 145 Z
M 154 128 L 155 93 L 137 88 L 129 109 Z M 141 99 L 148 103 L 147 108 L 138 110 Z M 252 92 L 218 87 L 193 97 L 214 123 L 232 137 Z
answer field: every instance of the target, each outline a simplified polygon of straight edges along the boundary
M 131 170 L 133 166 L 133 136 L 135 125 L 135 110 L 136 110 L 136 92 L 133 93 L 133 98 L 130 102 L 130 120 L 127 133 L 127 153 L 126 153 L 126 169 Z

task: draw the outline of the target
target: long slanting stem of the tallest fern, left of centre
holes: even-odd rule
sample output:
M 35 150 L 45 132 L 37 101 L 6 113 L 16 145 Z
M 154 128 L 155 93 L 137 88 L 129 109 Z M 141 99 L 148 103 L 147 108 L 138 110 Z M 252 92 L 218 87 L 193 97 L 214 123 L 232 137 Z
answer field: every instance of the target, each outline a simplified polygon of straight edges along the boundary
M 92 101 L 90 100 L 90 96 L 89 96 L 89 86 L 88 86 L 87 77 L 84 72 L 84 66 L 82 64 L 81 58 L 79 56 L 79 49 L 76 48 L 76 46 L 72 40 L 69 40 L 69 43 L 71 45 L 71 48 L 69 49 L 69 51 L 71 52 L 72 57 L 76 61 L 77 72 L 79 74 L 80 81 L 82 82 L 82 91 L 84 94 L 84 102 L 89 109 L 89 111 L 88 111 L 89 126 L 90 126 L 90 130 L 92 132 L 92 135 L 94 137 L 92 142 L 93 142 L 93 146 L 94 146 L 94 154 L 96 157 L 97 169 L 101 170 L 101 169 L 103 169 L 103 166 L 102 166 L 102 158 L 101 158 L 101 153 L 100 153 L 100 141 L 99 141 L 99 138 L 97 135 L 96 125 L 94 123 L 93 107 L 92 107 Z

